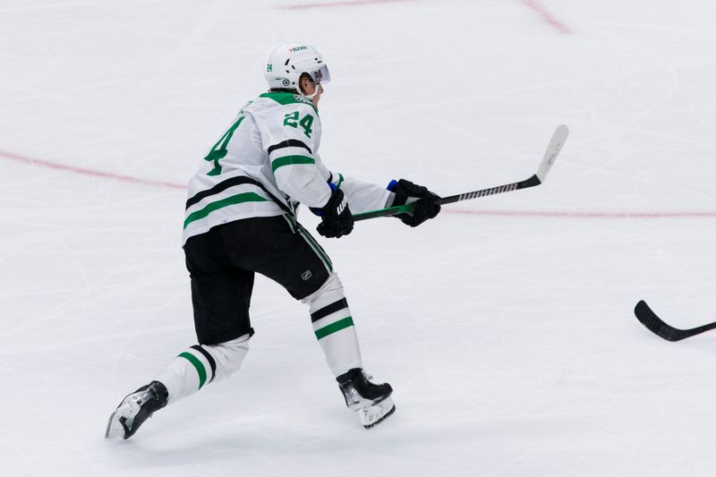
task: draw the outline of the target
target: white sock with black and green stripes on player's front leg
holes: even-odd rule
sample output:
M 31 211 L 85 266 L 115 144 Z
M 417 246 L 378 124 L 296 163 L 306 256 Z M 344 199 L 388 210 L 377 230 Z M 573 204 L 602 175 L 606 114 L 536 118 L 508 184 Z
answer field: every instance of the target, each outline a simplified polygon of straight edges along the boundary
M 311 311 L 313 332 L 335 376 L 362 368 L 361 348 L 343 285 L 335 273 L 310 296 L 303 299 Z

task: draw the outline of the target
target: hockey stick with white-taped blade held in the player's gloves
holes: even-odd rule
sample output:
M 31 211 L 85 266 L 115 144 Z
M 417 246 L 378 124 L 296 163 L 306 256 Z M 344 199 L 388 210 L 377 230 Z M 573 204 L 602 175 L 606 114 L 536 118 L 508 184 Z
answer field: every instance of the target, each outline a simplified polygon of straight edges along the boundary
M 554 161 L 559 154 L 559 151 L 562 149 L 562 146 L 564 146 L 565 141 L 567 141 L 567 135 L 569 135 L 569 130 L 567 129 L 567 126 L 564 124 L 558 126 L 554 134 L 552 134 L 552 139 L 550 140 L 550 144 L 547 146 L 547 150 L 544 151 L 544 158 L 542 158 L 540 168 L 537 169 L 537 172 L 532 177 L 524 179 L 524 181 L 520 181 L 517 183 L 507 183 L 505 185 L 499 185 L 497 187 L 490 187 L 489 189 L 481 189 L 480 191 L 450 195 L 448 197 L 443 197 L 440 200 L 437 200 L 437 202 L 440 205 L 451 204 L 459 200 L 478 199 L 487 195 L 501 194 L 502 192 L 518 191 L 520 189 L 526 189 L 527 187 L 534 187 L 535 185 L 540 185 L 544 182 L 545 178 L 547 177 L 547 174 L 550 172 L 552 164 L 554 164 Z M 395 216 L 396 214 L 410 212 L 411 210 L 413 210 L 413 207 L 413 203 L 410 203 L 396 207 L 388 207 L 388 209 L 371 210 L 370 212 L 354 214 L 353 218 L 354 220 L 358 221 L 374 217 Z

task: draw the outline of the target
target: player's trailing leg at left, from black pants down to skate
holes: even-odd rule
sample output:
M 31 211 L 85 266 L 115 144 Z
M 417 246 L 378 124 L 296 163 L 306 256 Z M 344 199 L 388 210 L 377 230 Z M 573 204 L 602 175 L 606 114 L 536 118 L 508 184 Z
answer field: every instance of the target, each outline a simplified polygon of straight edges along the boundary
M 212 230 L 184 247 L 200 345 L 180 353 L 149 384 L 126 396 L 110 416 L 105 437 L 129 439 L 159 409 L 241 368 L 253 334 L 249 302 L 254 276 L 230 267 L 220 240 L 220 231 Z

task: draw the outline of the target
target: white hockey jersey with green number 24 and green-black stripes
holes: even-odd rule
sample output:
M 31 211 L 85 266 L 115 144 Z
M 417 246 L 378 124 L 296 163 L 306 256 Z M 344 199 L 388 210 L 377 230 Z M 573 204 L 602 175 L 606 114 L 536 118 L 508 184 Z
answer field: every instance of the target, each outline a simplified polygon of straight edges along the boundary
M 328 182 L 345 193 L 353 213 L 387 207 L 391 192 L 331 173 L 319 146 L 320 118 L 310 99 L 268 92 L 249 102 L 189 182 L 182 244 L 234 220 L 295 216 L 299 203 L 323 207 Z

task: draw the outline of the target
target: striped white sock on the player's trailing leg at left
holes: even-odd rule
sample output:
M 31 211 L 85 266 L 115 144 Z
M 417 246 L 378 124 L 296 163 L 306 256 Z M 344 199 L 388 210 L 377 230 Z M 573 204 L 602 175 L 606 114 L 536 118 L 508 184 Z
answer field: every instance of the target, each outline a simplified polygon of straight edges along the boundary
M 220 345 L 193 345 L 158 372 L 154 380 L 164 384 L 168 403 L 190 396 L 213 380 L 226 379 L 241 368 L 249 352 L 249 335 Z

